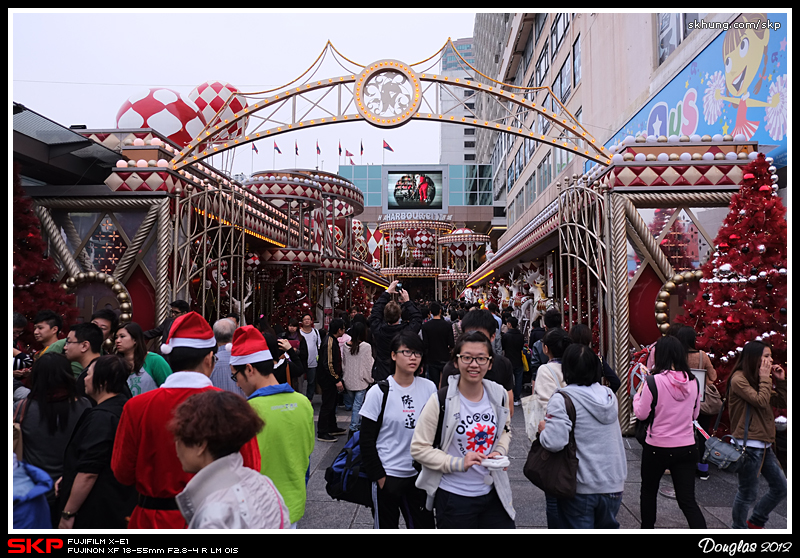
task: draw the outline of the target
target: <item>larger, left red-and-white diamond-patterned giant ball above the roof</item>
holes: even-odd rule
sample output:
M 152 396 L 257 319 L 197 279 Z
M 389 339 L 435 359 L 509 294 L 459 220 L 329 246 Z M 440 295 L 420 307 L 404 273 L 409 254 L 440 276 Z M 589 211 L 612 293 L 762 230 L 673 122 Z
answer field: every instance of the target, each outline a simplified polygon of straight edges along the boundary
M 134 93 L 117 112 L 117 128 L 152 128 L 181 147 L 200 134 L 204 127 L 195 104 L 164 87 L 151 87 Z

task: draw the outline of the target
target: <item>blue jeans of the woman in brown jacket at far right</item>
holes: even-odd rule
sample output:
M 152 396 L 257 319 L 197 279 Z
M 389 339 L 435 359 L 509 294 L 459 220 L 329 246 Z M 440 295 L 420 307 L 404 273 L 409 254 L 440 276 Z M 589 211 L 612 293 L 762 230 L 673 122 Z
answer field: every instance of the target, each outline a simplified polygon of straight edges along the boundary
M 770 512 L 786 498 L 786 475 L 772 448 L 748 447 L 744 465 L 736 474 L 739 489 L 733 499 L 733 529 L 747 529 L 747 513 L 758 497 L 759 472 L 769 483 L 769 491 L 756 503 L 751 523 L 758 527 L 766 525 Z

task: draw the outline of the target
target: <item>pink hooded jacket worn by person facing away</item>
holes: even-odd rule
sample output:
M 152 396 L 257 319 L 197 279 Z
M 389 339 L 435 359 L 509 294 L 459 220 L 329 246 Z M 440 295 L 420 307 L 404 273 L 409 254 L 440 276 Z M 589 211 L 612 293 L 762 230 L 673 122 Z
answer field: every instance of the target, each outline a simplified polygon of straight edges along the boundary
M 665 370 L 654 376 L 658 401 L 655 418 L 647 431 L 646 442 L 661 448 L 694 445 L 692 421 L 700 414 L 700 392 L 697 382 L 683 372 Z M 653 394 L 645 383 L 633 398 L 633 412 L 639 420 L 650 414 Z

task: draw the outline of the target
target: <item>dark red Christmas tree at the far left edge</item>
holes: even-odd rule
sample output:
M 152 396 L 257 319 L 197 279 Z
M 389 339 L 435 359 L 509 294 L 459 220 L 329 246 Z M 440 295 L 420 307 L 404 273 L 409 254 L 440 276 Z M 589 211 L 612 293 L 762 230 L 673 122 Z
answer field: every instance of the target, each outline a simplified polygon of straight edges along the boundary
M 64 320 L 64 331 L 75 323 L 78 309 L 75 296 L 67 294 L 57 281 L 58 267 L 46 254 L 41 223 L 33 211 L 31 199 L 25 195 L 14 167 L 13 307 L 28 319 L 20 341 L 33 342 L 33 318 L 40 310 L 52 310 Z M 34 344 L 35 345 L 35 344 Z M 41 348 L 34 346 L 34 349 Z

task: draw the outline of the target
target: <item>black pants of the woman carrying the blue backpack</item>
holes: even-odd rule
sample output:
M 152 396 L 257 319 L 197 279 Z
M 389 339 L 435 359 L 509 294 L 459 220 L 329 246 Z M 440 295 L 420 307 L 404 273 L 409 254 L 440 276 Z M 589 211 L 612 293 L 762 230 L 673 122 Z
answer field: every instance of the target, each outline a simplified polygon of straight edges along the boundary
M 400 514 L 407 529 L 433 529 L 433 512 L 425 509 L 427 495 L 414 485 L 416 476 L 409 478 L 387 475 L 383 488 L 377 488 L 378 528 L 399 529 Z M 373 517 L 375 509 L 372 510 Z

